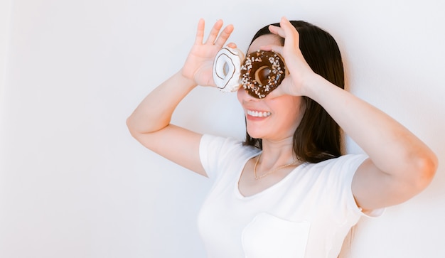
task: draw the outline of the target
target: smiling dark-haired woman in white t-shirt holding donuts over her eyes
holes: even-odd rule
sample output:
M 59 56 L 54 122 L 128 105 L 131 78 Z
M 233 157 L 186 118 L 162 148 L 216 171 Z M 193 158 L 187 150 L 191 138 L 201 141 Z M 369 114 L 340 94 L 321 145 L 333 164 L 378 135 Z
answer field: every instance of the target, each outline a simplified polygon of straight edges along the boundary
M 233 31 L 222 27 L 217 21 L 203 43 L 200 20 L 183 68 L 127 120 L 141 144 L 213 179 L 198 223 L 209 257 L 337 257 L 360 216 L 379 215 L 428 186 L 437 167 L 434 153 L 342 89 L 338 47 L 310 23 L 282 18 L 254 37 L 248 53 L 279 53 L 289 75 L 264 99 L 238 90 L 244 144 L 170 124 L 194 87 L 215 85 L 213 59 Z M 341 155 L 338 126 L 366 155 Z

